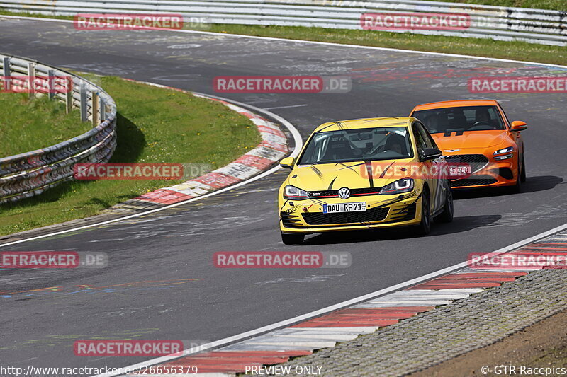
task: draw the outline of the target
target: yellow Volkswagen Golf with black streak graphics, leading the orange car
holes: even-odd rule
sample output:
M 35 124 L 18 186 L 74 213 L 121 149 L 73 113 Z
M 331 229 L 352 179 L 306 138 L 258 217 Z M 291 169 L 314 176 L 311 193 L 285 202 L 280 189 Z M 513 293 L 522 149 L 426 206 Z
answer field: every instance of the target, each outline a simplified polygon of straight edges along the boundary
M 390 226 L 427 235 L 432 219 L 453 219 L 449 167 L 414 117 L 322 124 L 297 160 L 280 165 L 291 169 L 278 196 L 286 245 L 310 233 Z

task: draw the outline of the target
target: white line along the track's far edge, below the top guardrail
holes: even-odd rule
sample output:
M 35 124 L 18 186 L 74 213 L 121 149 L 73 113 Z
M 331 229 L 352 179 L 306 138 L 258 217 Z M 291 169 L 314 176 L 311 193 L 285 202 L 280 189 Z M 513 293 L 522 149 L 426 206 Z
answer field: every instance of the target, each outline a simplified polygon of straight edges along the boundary
M 22 18 L 26 20 L 35 21 L 50 21 L 50 22 L 62 22 L 62 23 L 73 23 L 72 20 L 57 20 L 54 18 L 41 18 L 41 17 L 26 17 L 26 16 L 2 16 L 0 18 Z M 496 57 L 475 57 L 472 55 L 461 55 L 461 54 L 448 54 L 447 52 L 429 52 L 429 51 L 415 51 L 415 50 L 403 50 L 398 48 L 388 48 L 388 47 L 375 47 L 375 46 L 361 46 L 361 45 L 349 45 L 346 43 L 332 43 L 332 42 L 317 42 L 313 40 L 293 40 L 286 38 L 276 38 L 276 37 L 259 37 L 257 35 L 240 35 L 240 34 L 230 34 L 230 33 L 215 33 L 213 31 L 198 31 L 198 30 L 158 30 L 158 31 L 169 31 L 172 33 L 191 33 L 191 34 L 206 34 L 206 35 L 222 35 L 223 37 L 239 37 L 239 38 L 249 38 L 249 39 L 259 39 L 259 40 L 276 40 L 282 42 L 297 42 L 297 43 L 308 43 L 310 45 L 325 45 L 325 46 L 336 46 L 336 47 L 354 47 L 366 50 L 382 50 L 382 51 L 392 51 L 392 52 L 407 52 L 409 54 L 425 54 L 425 55 L 437 55 L 440 57 L 459 57 L 465 59 L 479 59 L 479 60 L 490 60 L 493 62 L 507 62 L 507 63 L 519 63 L 519 64 L 529 64 L 538 66 L 552 66 L 555 68 L 567 69 L 567 66 L 559 64 L 548 64 L 548 63 L 537 63 L 537 62 L 527 62 L 522 60 L 512 60 L 512 59 L 500 59 Z

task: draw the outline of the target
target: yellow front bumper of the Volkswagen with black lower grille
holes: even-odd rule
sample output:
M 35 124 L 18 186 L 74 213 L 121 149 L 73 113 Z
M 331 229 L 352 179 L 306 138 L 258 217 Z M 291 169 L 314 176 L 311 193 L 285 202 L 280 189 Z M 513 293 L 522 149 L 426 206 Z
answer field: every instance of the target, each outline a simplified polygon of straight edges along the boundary
M 322 213 L 322 204 L 366 202 L 366 211 Z M 293 205 L 291 205 L 293 203 Z M 411 226 L 421 221 L 421 197 L 417 192 L 403 195 L 369 195 L 285 201 L 280 209 L 283 233 L 324 233 L 368 228 Z

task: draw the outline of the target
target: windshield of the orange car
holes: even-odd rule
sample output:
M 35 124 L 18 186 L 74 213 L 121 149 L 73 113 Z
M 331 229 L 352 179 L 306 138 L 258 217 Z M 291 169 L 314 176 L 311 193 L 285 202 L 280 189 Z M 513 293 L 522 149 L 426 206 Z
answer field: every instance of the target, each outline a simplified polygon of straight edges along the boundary
M 463 106 L 416 111 L 431 134 L 506 129 L 496 106 Z

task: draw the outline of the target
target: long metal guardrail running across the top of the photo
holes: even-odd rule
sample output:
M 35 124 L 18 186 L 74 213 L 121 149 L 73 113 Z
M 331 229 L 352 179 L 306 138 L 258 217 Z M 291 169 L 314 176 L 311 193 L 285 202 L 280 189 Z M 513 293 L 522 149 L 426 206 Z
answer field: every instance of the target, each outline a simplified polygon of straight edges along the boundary
M 365 13 L 443 13 L 466 15 L 461 30 L 409 30 L 411 33 L 522 40 L 567 45 L 567 12 L 416 0 L 21 0 L 0 8 L 52 15 L 77 13 L 181 13 L 186 20 L 243 25 L 363 28 Z M 389 30 L 403 33 L 408 30 Z

